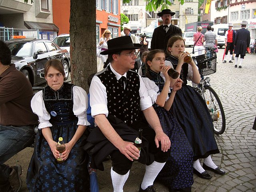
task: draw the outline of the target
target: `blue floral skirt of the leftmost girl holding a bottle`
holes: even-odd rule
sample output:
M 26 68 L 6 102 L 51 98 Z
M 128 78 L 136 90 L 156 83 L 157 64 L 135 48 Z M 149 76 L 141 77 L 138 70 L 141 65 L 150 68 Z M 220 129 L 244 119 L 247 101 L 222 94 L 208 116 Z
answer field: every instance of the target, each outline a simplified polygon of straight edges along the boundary
M 66 125 L 53 125 L 52 138 L 58 142 L 62 137 L 64 143 L 74 136 L 77 122 Z M 28 167 L 26 183 L 30 192 L 90 192 L 90 178 L 87 169 L 88 155 L 83 150 L 86 134 L 76 142 L 66 161 L 56 162 L 50 146 L 38 130 L 34 154 Z

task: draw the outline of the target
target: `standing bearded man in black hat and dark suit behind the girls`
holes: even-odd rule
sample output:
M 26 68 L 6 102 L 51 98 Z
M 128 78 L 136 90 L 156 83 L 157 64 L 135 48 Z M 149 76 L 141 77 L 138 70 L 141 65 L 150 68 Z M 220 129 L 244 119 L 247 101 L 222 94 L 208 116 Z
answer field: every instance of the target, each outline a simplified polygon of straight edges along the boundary
M 175 15 L 170 9 L 164 9 L 162 12 L 157 14 L 162 17 L 163 25 L 155 28 L 152 40 L 151 40 L 151 50 L 162 49 L 166 51 L 168 40 L 174 35 L 182 36 L 181 29 L 171 24 L 172 16 Z

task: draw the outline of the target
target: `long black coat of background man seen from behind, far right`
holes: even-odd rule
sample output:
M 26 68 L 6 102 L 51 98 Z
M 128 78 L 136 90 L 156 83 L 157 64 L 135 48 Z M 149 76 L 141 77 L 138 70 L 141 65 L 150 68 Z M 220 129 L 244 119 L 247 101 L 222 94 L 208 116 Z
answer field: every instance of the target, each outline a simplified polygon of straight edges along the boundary
M 241 28 L 237 30 L 234 41 L 235 54 L 244 55 L 246 54 L 246 48 L 250 46 L 250 32 Z

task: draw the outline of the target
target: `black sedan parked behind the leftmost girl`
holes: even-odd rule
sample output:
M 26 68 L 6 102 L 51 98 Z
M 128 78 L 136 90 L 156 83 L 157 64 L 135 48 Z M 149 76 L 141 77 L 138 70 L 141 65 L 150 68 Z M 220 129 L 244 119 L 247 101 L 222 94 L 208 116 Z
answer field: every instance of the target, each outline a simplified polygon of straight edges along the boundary
M 6 41 L 12 52 L 12 63 L 30 81 L 32 86 L 45 82 L 40 78 L 48 60 L 57 59 L 63 63 L 65 77 L 68 78 L 70 55 L 50 40 L 23 38 Z

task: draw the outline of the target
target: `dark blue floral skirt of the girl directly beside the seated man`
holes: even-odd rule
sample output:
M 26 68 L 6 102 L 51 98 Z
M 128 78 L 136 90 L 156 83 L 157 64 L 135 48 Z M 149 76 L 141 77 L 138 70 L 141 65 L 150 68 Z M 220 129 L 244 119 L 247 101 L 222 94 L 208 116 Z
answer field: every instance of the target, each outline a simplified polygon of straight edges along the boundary
M 194 182 L 192 148 L 174 115 L 162 107 L 154 109 L 171 141 L 170 156 L 157 179 L 170 189 L 189 188 Z

